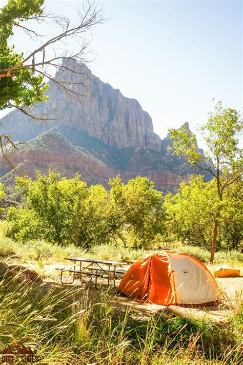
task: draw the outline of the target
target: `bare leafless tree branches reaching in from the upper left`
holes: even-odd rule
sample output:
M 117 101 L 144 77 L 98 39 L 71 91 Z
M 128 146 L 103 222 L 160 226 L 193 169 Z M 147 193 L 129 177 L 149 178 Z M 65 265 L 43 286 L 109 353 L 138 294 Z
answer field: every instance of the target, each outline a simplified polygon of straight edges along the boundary
M 66 16 L 46 12 L 28 18 L 19 17 L 10 19 L 9 22 L 21 28 L 31 39 L 37 40 L 41 44 L 36 49 L 31 50 L 16 65 L 8 68 L 0 68 L 0 78 L 14 78 L 17 70 L 30 69 L 34 74 L 42 75 L 45 80 L 54 83 L 58 89 L 66 92 L 69 97 L 78 101 L 80 101 L 80 98 L 86 97 L 84 92 L 86 87 L 84 79 L 87 79 L 90 73 L 84 67 L 84 64 L 88 62 L 88 55 L 91 52 L 89 49 L 90 40 L 87 39 L 87 35 L 92 36 L 92 31 L 95 27 L 98 24 L 104 23 L 106 19 L 103 16 L 102 8 L 98 7 L 94 1 L 84 2 L 83 8 L 77 12 L 77 17 L 78 23 L 76 25 L 71 25 L 71 21 Z M 23 21 L 27 21 L 27 24 L 23 24 Z M 38 31 L 29 27 L 28 21 L 36 21 L 38 24 L 53 24 L 56 34 L 53 36 L 52 33 L 52 36 L 48 39 L 47 35 L 39 34 Z M 43 41 L 44 37 L 45 42 Z M 75 51 L 69 50 L 70 40 L 74 40 L 76 43 Z M 53 75 L 54 73 L 55 75 Z M 69 79 L 67 79 L 67 74 Z M 35 105 L 32 110 L 32 107 L 30 109 L 29 107 L 16 105 L 12 100 L 7 100 L 6 104 L 38 122 L 57 119 L 53 117 L 49 118 L 48 115 L 38 115 Z M 17 172 L 6 156 L 7 144 L 17 149 L 16 144 L 10 136 L 6 135 L 0 135 L 0 144 L 3 157 L 5 157 L 10 166 Z

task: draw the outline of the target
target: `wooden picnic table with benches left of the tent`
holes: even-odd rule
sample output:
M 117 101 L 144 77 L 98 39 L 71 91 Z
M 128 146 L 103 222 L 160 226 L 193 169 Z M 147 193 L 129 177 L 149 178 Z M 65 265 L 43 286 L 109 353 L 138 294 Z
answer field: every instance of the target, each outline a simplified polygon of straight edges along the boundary
M 110 280 L 111 280 L 111 274 L 114 274 L 114 286 L 115 286 L 116 275 L 126 273 L 125 270 L 117 270 L 117 266 L 125 265 L 126 262 L 109 261 L 109 260 L 95 260 L 95 259 L 88 259 L 85 257 L 66 257 L 65 260 L 69 260 L 74 263 L 73 270 L 72 269 L 68 269 L 68 270 L 61 269 L 61 271 L 60 271 L 61 282 L 62 282 L 63 272 L 69 271 L 69 272 L 73 273 L 73 280 L 71 283 L 73 283 L 75 280 L 75 274 L 79 274 L 79 279 L 80 279 L 80 276 L 83 274 L 83 275 L 91 276 L 91 279 L 92 279 L 92 276 L 94 276 L 95 277 L 95 287 L 96 287 L 97 278 L 100 277 L 102 274 L 106 274 L 106 275 L 108 275 L 108 286 L 109 286 Z M 77 270 L 77 268 L 76 268 L 77 264 L 79 266 L 79 270 Z M 84 266 L 84 264 L 86 264 L 86 265 Z M 106 266 L 106 267 L 104 267 L 104 266 Z M 92 272 L 90 272 L 90 270 Z M 93 271 L 99 271 L 100 273 L 99 274 L 93 273 Z

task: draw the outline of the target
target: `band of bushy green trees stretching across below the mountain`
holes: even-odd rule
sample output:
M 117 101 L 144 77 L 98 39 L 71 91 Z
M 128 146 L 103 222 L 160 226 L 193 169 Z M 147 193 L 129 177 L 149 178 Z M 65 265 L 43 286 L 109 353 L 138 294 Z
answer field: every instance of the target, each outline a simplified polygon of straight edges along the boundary
M 6 235 L 15 240 L 46 240 L 60 245 L 122 241 L 134 247 L 154 247 L 179 240 L 211 248 L 218 195 L 213 180 L 191 176 L 176 194 L 154 189 L 147 177 L 123 183 L 119 176 L 103 185 L 88 186 L 80 175 L 60 178 L 49 171 L 37 179 L 16 178 L 23 203 L 6 213 Z M 226 189 L 221 205 L 218 249 L 239 249 L 242 240 L 242 181 Z M 3 186 L 1 195 L 3 197 Z

